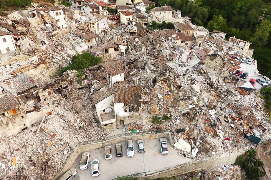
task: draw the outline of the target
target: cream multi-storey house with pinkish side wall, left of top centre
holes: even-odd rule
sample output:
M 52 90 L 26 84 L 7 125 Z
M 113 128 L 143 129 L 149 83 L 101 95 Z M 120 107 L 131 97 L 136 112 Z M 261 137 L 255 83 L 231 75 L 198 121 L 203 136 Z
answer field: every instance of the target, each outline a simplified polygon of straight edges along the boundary
M 108 28 L 107 16 L 95 14 L 85 22 L 85 27 L 94 34 L 101 33 L 103 29 Z

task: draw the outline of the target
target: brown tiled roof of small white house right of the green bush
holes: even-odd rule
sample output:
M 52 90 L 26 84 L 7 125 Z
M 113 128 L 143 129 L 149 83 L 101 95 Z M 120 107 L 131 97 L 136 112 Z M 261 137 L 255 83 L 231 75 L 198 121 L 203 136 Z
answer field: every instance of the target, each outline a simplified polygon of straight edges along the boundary
M 124 73 L 122 61 L 111 61 L 102 64 L 108 74 L 112 77 Z

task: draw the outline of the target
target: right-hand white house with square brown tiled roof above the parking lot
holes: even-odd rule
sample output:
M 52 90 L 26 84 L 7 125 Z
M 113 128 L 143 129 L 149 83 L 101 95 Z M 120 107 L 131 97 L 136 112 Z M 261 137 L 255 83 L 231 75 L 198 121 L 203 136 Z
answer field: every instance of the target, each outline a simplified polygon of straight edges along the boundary
M 114 109 L 116 127 L 120 128 L 140 117 L 141 88 L 139 85 L 115 85 Z

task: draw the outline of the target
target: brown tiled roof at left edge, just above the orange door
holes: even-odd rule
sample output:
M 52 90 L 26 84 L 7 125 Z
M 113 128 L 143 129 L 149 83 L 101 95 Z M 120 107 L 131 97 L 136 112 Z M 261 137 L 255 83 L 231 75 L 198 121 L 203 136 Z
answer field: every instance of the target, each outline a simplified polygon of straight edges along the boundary
M 0 98 L 0 113 L 16 107 L 18 107 L 18 101 L 13 95 L 7 94 L 6 96 Z

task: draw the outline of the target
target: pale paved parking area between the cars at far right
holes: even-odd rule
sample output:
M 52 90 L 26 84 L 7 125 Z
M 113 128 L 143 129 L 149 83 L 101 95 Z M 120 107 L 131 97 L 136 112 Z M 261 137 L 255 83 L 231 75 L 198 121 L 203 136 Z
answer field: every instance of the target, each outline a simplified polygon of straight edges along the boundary
M 247 78 L 245 79 L 246 81 L 249 81 L 251 78 L 257 80 L 257 78 L 261 78 L 262 75 L 256 72 L 256 65 L 255 61 L 252 64 L 247 64 L 247 63 L 241 63 L 239 65 L 241 68 L 239 70 L 243 71 L 244 73 L 248 73 Z M 254 88 L 259 90 L 262 87 L 260 83 L 255 82 Z

